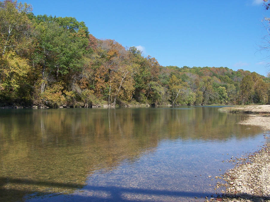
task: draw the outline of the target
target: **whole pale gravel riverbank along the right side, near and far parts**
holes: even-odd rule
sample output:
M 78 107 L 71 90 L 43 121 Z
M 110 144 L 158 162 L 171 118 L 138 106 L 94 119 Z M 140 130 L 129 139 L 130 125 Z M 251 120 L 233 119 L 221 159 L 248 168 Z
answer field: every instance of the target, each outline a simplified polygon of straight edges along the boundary
M 260 126 L 265 131 L 270 130 L 270 105 L 225 107 L 219 111 L 248 113 L 250 114 L 248 119 L 239 124 Z M 265 138 L 270 138 L 269 133 L 265 133 Z M 242 158 L 236 160 L 241 161 Z M 216 201 L 270 202 L 269 143 L 266 143 L 260 151 L 248 155 L 247 161 L 243 160 L 240 165 L 230 169 L 222 177 L 227 181 L 226 192 Z

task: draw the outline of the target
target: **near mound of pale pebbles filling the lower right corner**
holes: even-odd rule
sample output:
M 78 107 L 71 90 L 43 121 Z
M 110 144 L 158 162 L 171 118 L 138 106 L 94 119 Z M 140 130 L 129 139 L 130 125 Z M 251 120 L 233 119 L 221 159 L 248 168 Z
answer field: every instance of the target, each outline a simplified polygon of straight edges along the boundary
M 242 164 L 223 175 L 228 184 L 217 183 L 216 187 L 226 187 L 222 200 L 270 202 L 270 145 L 265 145 L 260 151 L 249 154 L 248 159 L 242 160 Z

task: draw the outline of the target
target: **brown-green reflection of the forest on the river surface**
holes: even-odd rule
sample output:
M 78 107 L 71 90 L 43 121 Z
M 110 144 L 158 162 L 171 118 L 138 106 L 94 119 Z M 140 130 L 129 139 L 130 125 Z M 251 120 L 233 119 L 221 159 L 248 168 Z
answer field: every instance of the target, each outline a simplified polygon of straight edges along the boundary
M 216 108 L 4 111 L 0 117 L 1 193 L 71 192 L 96 169 L 112 169 L 154 151 L 160 140 L 226 140 L 260 130 L 235 124 L 245 115 Z M 14 183 L 8 178 L 47 184 Z M 19 193 L 19 192 L 18 192 Z M 20 196 L 21 197 L 21 196 Z M 18 198 L 17 198 L 18 199 Z

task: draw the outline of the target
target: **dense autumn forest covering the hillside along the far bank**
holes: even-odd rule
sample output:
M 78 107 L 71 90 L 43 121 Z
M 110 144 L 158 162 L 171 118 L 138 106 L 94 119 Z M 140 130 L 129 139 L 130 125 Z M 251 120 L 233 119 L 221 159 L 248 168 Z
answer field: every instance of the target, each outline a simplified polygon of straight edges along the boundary
M 227 67 L 161 66 L 136 47 L 96 39 L 73 17 L 0 2 L 1 106 L 270 103 L 270 79 Z

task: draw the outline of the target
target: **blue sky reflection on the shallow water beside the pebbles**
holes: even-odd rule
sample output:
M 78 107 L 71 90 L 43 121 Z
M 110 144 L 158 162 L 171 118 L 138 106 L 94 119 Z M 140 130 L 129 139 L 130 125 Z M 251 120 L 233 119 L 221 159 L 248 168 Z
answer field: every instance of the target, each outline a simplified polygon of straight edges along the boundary
M 262 134 L 226 141 L 162 140 L 136 160 L 123 160 L 112 170 L 95 171 L 87 185 L 73 194 L 29 201 L 190 201 L 194 197 L 203 201 L 214 193 L 216 182 L 222 181 L 214 177 L 233 166 L 226 160 L 253 152 L 263 142 Z

